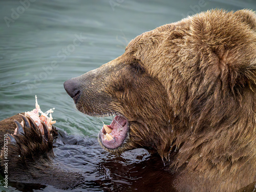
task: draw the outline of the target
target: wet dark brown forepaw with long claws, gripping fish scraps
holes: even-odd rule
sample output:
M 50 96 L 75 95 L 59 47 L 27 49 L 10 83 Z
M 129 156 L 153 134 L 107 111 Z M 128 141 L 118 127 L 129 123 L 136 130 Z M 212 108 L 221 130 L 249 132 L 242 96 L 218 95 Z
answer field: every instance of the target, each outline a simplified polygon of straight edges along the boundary
M 33 127 L 24 126 L 25 135 L 13 135 L 16 142 L 9 140 L 4 146 L 5 134 L 13 134 L 16 128 L 13 120 L 22 122 L 18 114 L 0 121 L 0 173 L 4 177 L 8 175 L 8 181 L 40 183 L 65 189 L 83 182 L 81 174 L 63 169 L 54 163 L 53 142 L 58 135 L 54 126 L 48 141 L 42 137 L 38 127 L 34 131 Z M 4 155 L 5 152 L 7 156 Z M 4 173 L 5 163 L 8 163 L 8 173 Z

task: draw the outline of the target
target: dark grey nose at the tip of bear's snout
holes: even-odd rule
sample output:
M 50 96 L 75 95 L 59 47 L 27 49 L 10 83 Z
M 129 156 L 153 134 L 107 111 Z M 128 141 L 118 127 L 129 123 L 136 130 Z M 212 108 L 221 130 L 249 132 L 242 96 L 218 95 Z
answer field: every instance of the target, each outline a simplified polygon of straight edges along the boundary
M 77 100 L 80 95 L 80 83 L 76 79 L 69 79 L 64 82 L 64 89 L 74 100 Z

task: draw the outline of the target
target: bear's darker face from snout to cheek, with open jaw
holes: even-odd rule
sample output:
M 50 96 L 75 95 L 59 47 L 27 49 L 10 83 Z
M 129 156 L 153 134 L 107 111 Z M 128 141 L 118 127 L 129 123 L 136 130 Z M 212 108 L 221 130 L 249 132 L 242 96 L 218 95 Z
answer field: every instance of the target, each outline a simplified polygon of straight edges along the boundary
M 100 68 L 65 82 L 80 112 L 115 116 L 110 125 L 104 125 L 107 130 L 102 127 L 98 135 L 103 148 L 112 153 L 152 147 L 163 133 L 169 134 L 164 129 L 169 111 L 166 91 L 135 52 L 128 50 Z M 107 132 L 111 138 L 106 137 Z

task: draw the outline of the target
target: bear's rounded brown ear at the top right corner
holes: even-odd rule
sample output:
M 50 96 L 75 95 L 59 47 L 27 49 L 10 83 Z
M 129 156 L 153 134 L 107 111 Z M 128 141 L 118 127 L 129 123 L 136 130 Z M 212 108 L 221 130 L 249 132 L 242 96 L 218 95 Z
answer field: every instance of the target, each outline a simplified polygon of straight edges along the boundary
M 254 11 L 243 9 L 234 12 L 234 15 L 237 16 L 242 23 L 248 25 L 250 29 L 256 31 L 256 16 Z

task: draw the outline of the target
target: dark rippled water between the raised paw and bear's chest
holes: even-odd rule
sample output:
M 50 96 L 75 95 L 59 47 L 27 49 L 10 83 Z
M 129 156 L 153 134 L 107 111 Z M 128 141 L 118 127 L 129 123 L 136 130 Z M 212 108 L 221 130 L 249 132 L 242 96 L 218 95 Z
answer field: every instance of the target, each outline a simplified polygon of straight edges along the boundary
M 175 191 L 172 175 L 157 154 L 137 148 L 115 156 L 103 151 L 95 137 L 68 136 L 58 131 L 54 164 L 85 178 L 72 191 Z M 62 191 L 56 186 L 9 184 L 20 191 Z

